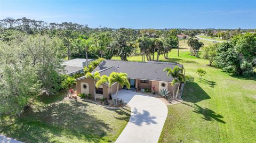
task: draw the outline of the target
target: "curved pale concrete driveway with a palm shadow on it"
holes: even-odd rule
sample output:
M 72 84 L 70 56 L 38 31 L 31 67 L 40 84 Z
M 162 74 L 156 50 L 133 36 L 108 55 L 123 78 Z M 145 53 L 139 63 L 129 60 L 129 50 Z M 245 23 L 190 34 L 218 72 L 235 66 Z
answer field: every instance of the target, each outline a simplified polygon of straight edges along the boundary
M 116 142 L 157 142 L 168 112 L 166 105 L 160 99 L 130 90 L 119 91 L 118 98 L 131 107 L 132 113 Z

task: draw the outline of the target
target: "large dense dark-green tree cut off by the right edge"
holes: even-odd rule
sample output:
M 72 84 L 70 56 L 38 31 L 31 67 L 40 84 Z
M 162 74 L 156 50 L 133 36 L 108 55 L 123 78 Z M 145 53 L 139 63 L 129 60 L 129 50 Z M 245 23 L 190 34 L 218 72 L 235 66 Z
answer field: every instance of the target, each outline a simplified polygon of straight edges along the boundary
M 217 48 L 215 63 L 218 67 L 236 75 L 253 75 L 256 67 L 256 33 L 240 34 Z

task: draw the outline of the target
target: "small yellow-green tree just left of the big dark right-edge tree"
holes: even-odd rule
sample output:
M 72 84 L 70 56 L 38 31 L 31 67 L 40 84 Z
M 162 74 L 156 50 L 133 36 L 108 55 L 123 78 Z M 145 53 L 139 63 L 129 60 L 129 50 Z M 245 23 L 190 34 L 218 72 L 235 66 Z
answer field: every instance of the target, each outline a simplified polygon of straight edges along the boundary
M 209 45 L 206 47 L 203 47 L 203 53 L 202 53 L 202 58 L 209 60 L 209 65 L 212 65 L 212 62 L 215 59 L 215 56 L 217 55 L 216 49 L 217 49 L 218 45 L 214 44 L 214 45 Z

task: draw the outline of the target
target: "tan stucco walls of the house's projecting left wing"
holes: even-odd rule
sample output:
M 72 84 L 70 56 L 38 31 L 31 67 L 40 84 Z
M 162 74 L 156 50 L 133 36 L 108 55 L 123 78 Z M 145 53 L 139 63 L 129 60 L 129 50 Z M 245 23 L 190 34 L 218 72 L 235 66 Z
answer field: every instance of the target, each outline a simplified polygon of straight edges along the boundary
M 94 98 L 94 80 L 92 78 L 85 78 L 81 80 L 77 80 L 77 85 L 76 85 L 76 95 L 81 94 L 81 82 L 85 82 L 89 84 L 89 93 L 92 95 L 92 99 Z M 109 89 L 108 86 L 103 85 L 103 98 L 108 98 L 109 95 Z

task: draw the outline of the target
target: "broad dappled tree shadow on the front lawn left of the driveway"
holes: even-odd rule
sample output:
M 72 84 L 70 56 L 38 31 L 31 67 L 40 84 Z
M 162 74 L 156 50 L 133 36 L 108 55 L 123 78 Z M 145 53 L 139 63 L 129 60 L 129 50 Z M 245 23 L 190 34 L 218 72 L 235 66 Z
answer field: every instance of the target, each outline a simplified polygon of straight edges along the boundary
M 112 129 L 88 114 L 87 106 L 81 102 L 63 102 L 29 110 L 15 124 L 1 125 L 2 133 L 25 142 L 57 142 L 52 140 L 56 136 L 100 142 Z

